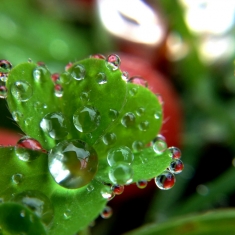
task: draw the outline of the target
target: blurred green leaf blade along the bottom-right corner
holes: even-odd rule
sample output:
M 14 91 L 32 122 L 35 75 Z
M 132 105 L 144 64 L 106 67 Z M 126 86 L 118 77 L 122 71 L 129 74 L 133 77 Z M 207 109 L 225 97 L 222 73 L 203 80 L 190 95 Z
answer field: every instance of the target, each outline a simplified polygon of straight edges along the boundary
M 233 235 L 235 210 L 215 210 L 202 215 L 171 219 L 166 223 L 151 224 L 125 235 Z

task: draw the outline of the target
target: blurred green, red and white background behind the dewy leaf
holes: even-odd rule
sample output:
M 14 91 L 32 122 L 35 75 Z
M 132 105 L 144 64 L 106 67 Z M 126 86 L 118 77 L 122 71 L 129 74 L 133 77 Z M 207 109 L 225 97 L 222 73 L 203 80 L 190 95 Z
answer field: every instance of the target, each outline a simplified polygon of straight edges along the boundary
M 161 133 L 184 171 L 161 191 L 135 185 L 108 204 L 91 235 L 119 235 L 175 216 L 235 206 L 235 1 L 2 0 L 0 58 L 43 61 L 52 73 L 91 54 L 117 53 L 121 68 L 160 93 Z M 20 133 L 0 100 L 0 141 Z M 4 142 L 5 141 L 5 142 Z M 11 142 L 12 141 L 12 142 Z

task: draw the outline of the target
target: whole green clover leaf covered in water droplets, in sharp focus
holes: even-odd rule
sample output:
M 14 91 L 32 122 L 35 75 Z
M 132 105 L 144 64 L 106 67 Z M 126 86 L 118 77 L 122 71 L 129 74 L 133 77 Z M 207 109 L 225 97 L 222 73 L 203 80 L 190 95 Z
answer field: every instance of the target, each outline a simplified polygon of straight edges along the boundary
M 43 63 L 0 62 L 0 95 L 26 134 L 0 148 L 3 234 L 72 235 L 108 217 L 123 185 L 174 185 L 183 164 L 158 135 L 158 96 L 119 65 L 94 55 L 51 75 Z

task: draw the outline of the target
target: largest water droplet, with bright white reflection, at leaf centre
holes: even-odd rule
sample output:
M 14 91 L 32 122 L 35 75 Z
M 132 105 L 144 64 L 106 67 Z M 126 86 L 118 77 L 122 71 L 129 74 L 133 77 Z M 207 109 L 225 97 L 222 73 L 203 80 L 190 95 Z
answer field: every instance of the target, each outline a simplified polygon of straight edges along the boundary
M 48 157 L 50 173 L 65 188 L 80 188 L 90 183 L 98 167 L 96 151 L 80 140 L 60 142 Z

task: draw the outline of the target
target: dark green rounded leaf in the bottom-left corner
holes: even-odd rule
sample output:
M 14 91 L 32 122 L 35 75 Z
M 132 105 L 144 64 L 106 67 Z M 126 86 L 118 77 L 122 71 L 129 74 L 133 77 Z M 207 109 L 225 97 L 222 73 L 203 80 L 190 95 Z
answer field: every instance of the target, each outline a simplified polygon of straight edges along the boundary
M 6 202 L 0 205 L 1 234 L 4 235 L 46 235 L 40 219 L 27 207 Z

